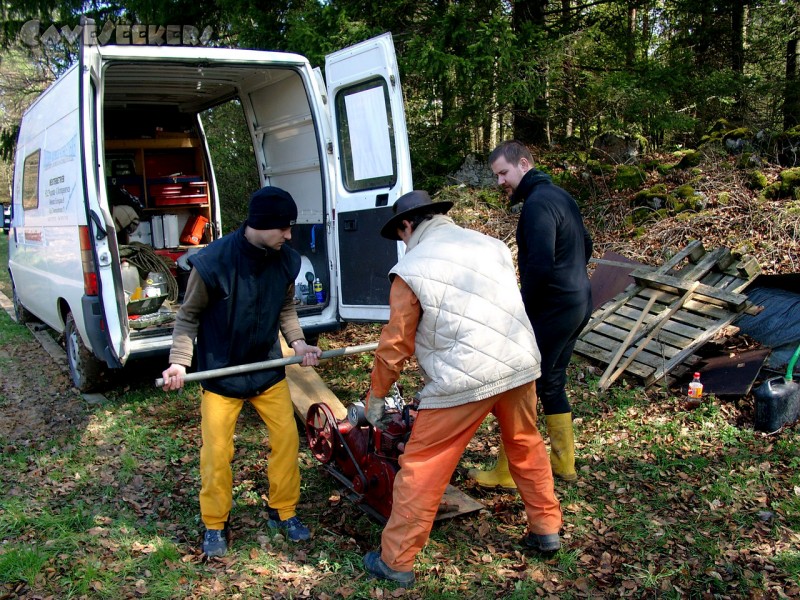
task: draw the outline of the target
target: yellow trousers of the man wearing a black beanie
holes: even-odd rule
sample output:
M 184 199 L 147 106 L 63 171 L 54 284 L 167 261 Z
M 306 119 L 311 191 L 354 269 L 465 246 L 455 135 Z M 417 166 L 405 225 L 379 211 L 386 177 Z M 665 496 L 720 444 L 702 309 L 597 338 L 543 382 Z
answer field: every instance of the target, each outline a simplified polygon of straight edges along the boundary
M 289 384 L 284 379 L 248 398 L 267 426 L 272 451 L 267 464 L 269 505 L 281 519 L 295 515 L 300 500 L 300 436 L 294 420 Z M 233 506 L 233 434 L 244 400 L 203 390 L 200 404 L 203 447 L 200 449 L 200 514 L 207 529 L 222 529 Z

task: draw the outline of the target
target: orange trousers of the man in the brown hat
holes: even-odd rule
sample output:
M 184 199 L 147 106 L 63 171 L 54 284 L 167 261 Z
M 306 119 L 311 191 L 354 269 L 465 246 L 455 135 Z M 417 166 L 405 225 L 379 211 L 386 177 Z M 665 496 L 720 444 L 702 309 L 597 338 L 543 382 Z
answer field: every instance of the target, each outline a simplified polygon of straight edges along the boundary
M 489 413 L 500 425 L 508 468 L 517 484 L 528 530 L 558 533 L 561 506 L 553 490 L 547 449 L 536 427 L 536 387 L 522 385 L 479 402 L 421 410 L 400 456 L 392 514 L 381 535 L 381 558 L 392 569 L 411 571 L 428 541 L 439 503 L 464 449 Z

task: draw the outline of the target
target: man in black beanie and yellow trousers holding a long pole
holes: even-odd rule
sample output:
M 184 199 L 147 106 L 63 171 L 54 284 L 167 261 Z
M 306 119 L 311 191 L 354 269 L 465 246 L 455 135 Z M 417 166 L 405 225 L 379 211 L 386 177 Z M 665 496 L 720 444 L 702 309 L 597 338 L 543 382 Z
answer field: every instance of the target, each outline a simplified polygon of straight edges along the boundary
M 303 356 L 303 366 L 319 364 L 322 351 L 306 344 L 294 305 L 300 255 L 286 242 L 292 238 L 296 219 L 291 195 L 264 187 L 251 196 L 242 227 L 189 258 L 193 268 L 176 318 L 170 366 L 164 371 L 165 391 L 183 387 L 195 337 L 200 371 L 281 358 L 279 331 L 295 354 Z M 292 541 L 308 539 L 308 528 L 295 512 L 300 499 L 300 442 L 284 368 L 207 379 L 201 385 L 203 552 L 222 556 L 228 549 L 233 433 L 245 400 L 269 430 L 267 524 Z

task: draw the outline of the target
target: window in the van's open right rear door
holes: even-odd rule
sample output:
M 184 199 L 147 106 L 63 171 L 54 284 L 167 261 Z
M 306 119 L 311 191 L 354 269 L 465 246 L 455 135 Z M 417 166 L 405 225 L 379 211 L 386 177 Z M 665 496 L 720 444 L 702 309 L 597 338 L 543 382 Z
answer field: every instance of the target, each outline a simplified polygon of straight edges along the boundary
M 342 179 L 348 191 L 392 187 L 397 181 L 389 90 L 381 78 L 336 94 Z

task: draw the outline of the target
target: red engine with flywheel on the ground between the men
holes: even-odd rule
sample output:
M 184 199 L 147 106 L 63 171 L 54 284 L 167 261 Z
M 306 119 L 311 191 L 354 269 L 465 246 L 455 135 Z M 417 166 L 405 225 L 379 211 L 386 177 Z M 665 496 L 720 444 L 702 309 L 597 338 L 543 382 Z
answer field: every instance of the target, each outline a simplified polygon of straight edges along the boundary
M 405 449 L 416 407 L 387 411 L 384 427 L 371 426 L 364 404 L 352 404 L 347 419 L 337 420 L 324 402 L 312 405 L 306 417 L 306 436 L 314 456 L 340 483 L 350 500 L 385 523 L 392 512 L 392 488 L 398 458 Z

